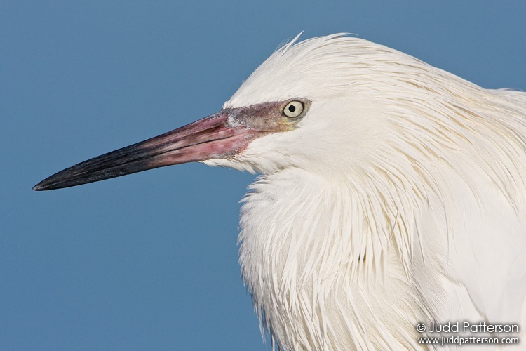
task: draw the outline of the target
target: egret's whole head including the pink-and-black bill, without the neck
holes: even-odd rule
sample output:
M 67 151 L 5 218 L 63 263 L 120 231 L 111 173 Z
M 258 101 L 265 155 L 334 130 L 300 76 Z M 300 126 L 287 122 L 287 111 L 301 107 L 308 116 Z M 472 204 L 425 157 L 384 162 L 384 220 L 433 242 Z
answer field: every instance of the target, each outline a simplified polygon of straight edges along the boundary
M 219 112 L 76 164 L 34 190 L 189 161 L 260 173 L 366 171 L 389 148 L 385 87 L 397 81 L 386 78 L 382 64 L 400 60 L 398 52 L 338 34 L 295 41 L 259 66 Z

